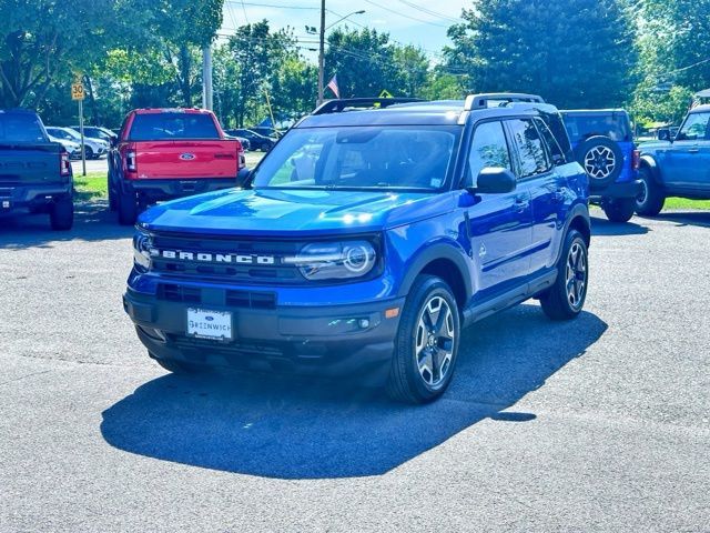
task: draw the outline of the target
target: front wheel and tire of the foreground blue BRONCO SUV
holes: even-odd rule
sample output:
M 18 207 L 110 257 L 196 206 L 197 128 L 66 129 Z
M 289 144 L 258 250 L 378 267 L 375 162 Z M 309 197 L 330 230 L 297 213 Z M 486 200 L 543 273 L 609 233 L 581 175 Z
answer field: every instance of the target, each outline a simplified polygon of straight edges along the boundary
M 402 312 L 387 379 L 389 398 L 422 404 L 444 394 L 456 365 L 459 338 L 452 290 L 440 278 L 420 275 Z

